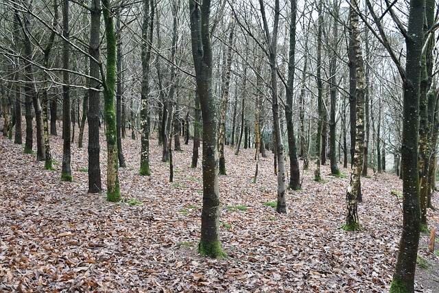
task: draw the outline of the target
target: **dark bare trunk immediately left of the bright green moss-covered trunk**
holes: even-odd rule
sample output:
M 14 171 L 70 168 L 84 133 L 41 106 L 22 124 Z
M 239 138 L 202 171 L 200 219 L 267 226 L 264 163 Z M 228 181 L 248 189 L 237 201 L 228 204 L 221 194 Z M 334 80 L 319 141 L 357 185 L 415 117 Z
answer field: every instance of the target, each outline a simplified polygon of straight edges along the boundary
M 90 25 L 90 90 L 88 91 L 88 192 L 95 194 L 102 191 L 101 167 L 99 159 L 99 30 L 101 19 L 101 3 L 91 1 Z

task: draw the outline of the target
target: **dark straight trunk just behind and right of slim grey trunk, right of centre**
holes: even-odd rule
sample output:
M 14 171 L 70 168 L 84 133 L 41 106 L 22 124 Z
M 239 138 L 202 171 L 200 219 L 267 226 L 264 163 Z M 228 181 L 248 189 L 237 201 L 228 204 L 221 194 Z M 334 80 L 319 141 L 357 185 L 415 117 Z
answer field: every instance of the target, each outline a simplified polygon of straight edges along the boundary
M 291 189 L 300 189 L 300 167 L 297 159 L 296 137 L 294 135 L 293 123 L 293 91 L 294 91 L 294 71 L 296 69 L 296 15 L 297 1 L 290 1 L 291 15 L 289 19 L 289 59 L 288 59 L 288 80 L 286 86 L 287 103 L 285 105 L 285 118 L 287 119 L 287 135 L 289 147 L 289 183 Z

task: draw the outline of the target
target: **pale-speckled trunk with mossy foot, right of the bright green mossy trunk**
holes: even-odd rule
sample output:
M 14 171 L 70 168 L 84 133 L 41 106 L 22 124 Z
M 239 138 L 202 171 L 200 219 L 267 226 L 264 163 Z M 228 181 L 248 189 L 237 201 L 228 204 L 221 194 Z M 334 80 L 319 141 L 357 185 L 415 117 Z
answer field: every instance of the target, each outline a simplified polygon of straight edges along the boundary
M 143 0 L 142 25 L 142 84 L 141 84 L 141 156 L 139 174 L 150 176 L 150 126 L 148 125 L 148 95 L 150 94 L 148 74 L 150 73 L 150 59 L 152 33 L 154 24 L 154 0 Z

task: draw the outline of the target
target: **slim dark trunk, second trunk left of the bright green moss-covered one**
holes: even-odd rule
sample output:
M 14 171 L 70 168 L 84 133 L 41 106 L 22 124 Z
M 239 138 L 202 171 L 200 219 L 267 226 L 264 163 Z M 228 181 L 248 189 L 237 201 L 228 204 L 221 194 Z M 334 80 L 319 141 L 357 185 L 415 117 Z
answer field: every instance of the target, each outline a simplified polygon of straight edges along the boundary
M 70 141 L 70 45 L 69 45 L 69 0 L 62 1 L 62 181 L 72 181 Z

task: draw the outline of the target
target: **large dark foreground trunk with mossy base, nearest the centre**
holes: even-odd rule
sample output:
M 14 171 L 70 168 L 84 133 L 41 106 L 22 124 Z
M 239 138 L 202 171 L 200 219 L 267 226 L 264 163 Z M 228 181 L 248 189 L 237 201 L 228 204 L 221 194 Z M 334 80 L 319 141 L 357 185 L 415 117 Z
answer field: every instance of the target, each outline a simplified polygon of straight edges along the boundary
M 203 119 L 203 208 L 198 250 L 207 257 L 224 257 L 219 238 L 217 109 L 212 86 L 211 1 L 189 0 L 192 56 Z

